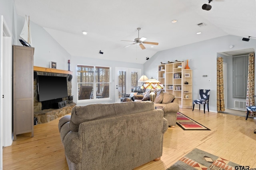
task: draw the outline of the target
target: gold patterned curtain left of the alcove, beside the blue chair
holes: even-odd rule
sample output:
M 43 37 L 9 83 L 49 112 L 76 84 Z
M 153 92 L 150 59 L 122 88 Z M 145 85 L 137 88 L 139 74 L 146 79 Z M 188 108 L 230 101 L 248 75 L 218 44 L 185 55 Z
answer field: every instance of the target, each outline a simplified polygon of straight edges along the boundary
M 217 58 L 217 111 L 225 111 L 222 57 Z

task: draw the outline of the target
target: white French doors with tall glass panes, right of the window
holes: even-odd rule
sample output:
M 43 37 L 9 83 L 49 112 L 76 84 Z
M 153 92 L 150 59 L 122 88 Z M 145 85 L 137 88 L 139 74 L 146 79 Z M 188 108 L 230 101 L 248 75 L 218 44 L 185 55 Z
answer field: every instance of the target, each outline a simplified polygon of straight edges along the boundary
M 116 102 L 120 102 L 120 98 L 124 94 L 130 94 L 135 86 L 138 85 L 138 79 L 141 76 L 141 69 L 139 68 L 121 68 L 116 67 Z

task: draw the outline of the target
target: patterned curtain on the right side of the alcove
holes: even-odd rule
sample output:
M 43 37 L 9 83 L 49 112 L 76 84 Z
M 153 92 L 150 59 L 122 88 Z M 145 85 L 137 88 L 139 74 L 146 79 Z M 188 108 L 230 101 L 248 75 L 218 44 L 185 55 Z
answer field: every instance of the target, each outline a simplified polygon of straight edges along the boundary
M 248 81 L 247 81 L 247 94 L 246 106 L 255 106 L 254 103 L 254 53 L 249 54 L 248 62 Z M 250 111 L 250 116 L 256 116 L 255 112 Z

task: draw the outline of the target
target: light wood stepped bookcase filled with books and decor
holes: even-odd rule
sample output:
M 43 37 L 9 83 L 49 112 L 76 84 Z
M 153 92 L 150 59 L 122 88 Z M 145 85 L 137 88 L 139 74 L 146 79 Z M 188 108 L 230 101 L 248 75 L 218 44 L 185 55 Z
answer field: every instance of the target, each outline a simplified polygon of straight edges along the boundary
M 158 65 L 158 81 L 178 99 L 181 108 L 192 108 L 192 70 L 185 66 L 184 62 Z

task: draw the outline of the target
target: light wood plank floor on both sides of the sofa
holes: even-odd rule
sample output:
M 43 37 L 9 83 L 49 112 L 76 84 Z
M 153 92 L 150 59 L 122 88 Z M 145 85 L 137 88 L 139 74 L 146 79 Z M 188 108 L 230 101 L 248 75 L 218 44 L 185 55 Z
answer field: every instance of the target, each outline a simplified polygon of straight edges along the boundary
M 210 152 L 243 166 L 256 168 L 255 120 L 223 113 L 180 109 L 211 131 L 184 131 L 178 125 L 164 134 L 163 155 L 136 170 L 165 170 L 194 148 Z M 30 133 L 17 136 L 12 146 L 3 150 L 4 170 L 68 170 L 58 132 L 58 120 L 34 126 Z

